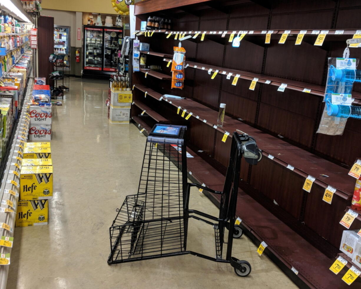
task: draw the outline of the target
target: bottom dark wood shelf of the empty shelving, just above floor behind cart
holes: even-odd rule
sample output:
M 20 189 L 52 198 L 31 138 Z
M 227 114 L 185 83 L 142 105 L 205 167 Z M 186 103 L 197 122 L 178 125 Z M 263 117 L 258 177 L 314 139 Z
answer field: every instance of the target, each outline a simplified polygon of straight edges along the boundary
M 151 130 L 148 125 L 144 126 L 144 124 L 138 122 L 137 117 L 133 117 L 133 120 L 139 130 L 142 130 L 142 128 Z M 147 133 L 144 134 L 146 136 L 148 135 Z M 198 156 L 198 154 L 189 147 L 187 147 L 187 152 L 193 156 L 193 158 L 187 158 L 188 178 L 191 179 L 192 182 L 204 185 L 210 189 L 222 191 L 225 176 L 217 170 L 214 170 L 208 162 L 204 161 L 203 158 Z M 219 206 L 219 195 L 206 192 L 205 190 L 203 190 L 202 194 L 205 194 L 213 203 Z M 332 286 L 332 284 L 337 281 L 337 276 L 323 266 L 324 263 L 330 263 L 329 258 L 320 253 L 309 242 L 292 231 L 286 224 L 281 222 L 241 190 L 238 194 L 236 215 L 242 219 L 240 225 L 242 226 L 244 234 L 251 238 L 256 246 L 262 241 L 265 241 L 268 247 L 264 254 L 268 255 L 278 266 L 283 267 L 287 276 L 301 288 L 304 288 L 305 285 L 310 288 L 316 288 L 312 286 L 312 284 L 315 281 L 317 282 L 320 275 L 327 277 L 328 286 Z M 268 226 L 264 225 L 265 220 Z M 273 230 L 270 230 L 273 226 L 279 228 L 276 235 Z M 294 246 L 288 246 L 288 244 L 299 244 L 300 246 L 295 248 Z M 292 267 L 299 271 L 298 275 L 291 271 Z M 317 268 L 317 270 L 313 270 L 313 272 L 309 274 L 309 272 L 305 270 L 307 267 Z M 348 286 L 346 286 L 345 284 L 339 288 L 348 288 Z M 318 288 L 330 287 L 320 286 Z

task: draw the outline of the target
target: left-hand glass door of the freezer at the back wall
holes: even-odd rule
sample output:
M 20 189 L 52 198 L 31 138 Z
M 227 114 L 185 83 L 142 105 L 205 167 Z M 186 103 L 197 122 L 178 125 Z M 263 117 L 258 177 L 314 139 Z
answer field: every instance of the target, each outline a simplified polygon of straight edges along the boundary
M 84 26 L 84 69 L 103 69 L 103 28 Z

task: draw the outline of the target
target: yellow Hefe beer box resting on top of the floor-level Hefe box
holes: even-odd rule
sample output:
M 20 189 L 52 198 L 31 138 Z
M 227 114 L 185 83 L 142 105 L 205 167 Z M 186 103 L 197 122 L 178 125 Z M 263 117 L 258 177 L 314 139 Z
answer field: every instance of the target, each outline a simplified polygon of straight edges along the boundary
M 21 167 L 19 200 L 53 197 L 53 166 Z

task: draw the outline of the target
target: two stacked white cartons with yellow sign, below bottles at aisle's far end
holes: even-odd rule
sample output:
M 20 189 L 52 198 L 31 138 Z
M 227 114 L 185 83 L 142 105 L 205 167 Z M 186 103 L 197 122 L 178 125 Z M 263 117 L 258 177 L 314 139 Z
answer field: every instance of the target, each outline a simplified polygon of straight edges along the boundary
M 109 122 L 129 123 L 131 103 L 131 91 L 120 91 L 110 88 Z

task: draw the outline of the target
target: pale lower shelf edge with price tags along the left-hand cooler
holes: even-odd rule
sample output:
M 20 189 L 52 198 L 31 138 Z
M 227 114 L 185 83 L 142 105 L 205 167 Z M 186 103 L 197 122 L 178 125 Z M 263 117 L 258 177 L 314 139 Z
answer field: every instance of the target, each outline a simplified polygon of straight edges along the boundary
M 7 163 L 5 166 L 5 171 L 3 175 L 3 179 L 1 180 L 1 187 L 0 187 L 0 195 L 1 201 L 9 200 L 14 203 L 14 211 L 15 213 L 0 213 L 0 221 L 2 223 L 8 224 L 10 227 L 10 231 L 1 228 L 1 236 L 5 237 L 13 237 L 14 236 L 14 228 L 15 228 L 15 219 L 16 219 L 16 207 L 19 198 L 19 187 L 15 184 L 20 183 L 20 179 L 16 174 L 13 174 L 12 171 L 20 172 L 20 169 L 15 165 L 17 163 L 18 166 L 21 167 L 21 158 L 22 158 L 22 141 L 27 139 L 27 134 L 29 130 L 29 122 L 26 121 L 27 113 L 29 112 L 29 103 L 31 98 L 32 87 L 34 84 L 34 79 L 29 78 L 27 83 L 27 90 L 26 95 L 24 97 L 23 102 L 23 109 L 21 111 L 21 115 L 18 118 L 17 126 L 14 128 L 14 135 L 11 142 L 11 147 L 9 149 L 9 155 L 7 158 Z M 11 183 L 14 181 L 15 183 Z M 9 191 L 13 191 L 13 194 L 7 193 Z M 8 209 L 8 205 L 1 204 L 1 208 Z M 14 242 L 18 242 L 19 240 L 14 240 Z M 1 254 L 10 254 L 10 263 L 11 263 L 11 247 L 0 247 Z M 0 266 L 0 285 L 1 288 L 6 288 L 6 282 L 8 278 L 8 271 L 9 266 L 14 265 L 7 265 L 7 266 Z

